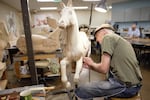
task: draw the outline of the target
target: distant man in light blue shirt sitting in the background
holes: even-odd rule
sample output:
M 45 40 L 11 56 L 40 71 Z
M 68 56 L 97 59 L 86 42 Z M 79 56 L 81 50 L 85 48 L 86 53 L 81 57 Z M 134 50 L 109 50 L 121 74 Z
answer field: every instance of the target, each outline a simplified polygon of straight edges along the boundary
M 129 28 L 128 36 L 130 38 L 140 37 L 140 30 L 136 27 L 136 24 L 132 24 L 131 28 Z

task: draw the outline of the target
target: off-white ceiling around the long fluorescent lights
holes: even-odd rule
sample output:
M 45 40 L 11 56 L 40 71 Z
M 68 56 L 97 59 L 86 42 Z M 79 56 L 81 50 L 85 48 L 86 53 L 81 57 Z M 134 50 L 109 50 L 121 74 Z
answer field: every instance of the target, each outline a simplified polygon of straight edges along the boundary
M 17 10 L 21 11 L 21 4 L 20 4 L 21 0 L 1 0 L 1 2 L 16 8 Z M 68 0 L 62 0 L 64 3 L 67 3 Z M 89 9 L 91 7 L 91 4 L 93 3 L 94 5 L 97 2 L 85 2 L 82 0 L 72 0 L 73 1 L 73 6 L 88 6 Z M 129 0 L 107 0 L 106 3 L 108 6 L 112 5 L 113 3 L 119 3 L 119 2 L 126 2 Z M 47 2 L 47 3 L 43 3 L 43 2 L 37 2 L 37 0 L 29 0 L 29 8 L 31 11 L 33 10 L 39 10 L 40 7 L 54 7 L 57 6 L 58 8 L 60 8 L 59 3 L 52 3 L 52 2 Z

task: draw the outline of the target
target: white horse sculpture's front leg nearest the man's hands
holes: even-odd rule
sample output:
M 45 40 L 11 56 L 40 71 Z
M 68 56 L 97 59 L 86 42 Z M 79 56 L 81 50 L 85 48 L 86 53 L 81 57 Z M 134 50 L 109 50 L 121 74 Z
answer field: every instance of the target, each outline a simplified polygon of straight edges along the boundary
M 77 62 L 76 62 L 76 71 L 74 75 L 74 82 L 78 83 L 79 81 L 79 75 L 82 69 L 82 64 L 83 64 L 83 58 L 81 57 Z

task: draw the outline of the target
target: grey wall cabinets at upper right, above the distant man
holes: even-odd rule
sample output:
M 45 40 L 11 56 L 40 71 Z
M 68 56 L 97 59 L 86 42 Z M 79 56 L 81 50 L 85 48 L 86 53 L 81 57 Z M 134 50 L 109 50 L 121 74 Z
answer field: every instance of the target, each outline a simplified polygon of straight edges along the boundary
M 113 9 L 112 21 L 114 22 L 129 22 L 129 21 L 149 21 L 150 7 L 144 8 L 126 8 Z

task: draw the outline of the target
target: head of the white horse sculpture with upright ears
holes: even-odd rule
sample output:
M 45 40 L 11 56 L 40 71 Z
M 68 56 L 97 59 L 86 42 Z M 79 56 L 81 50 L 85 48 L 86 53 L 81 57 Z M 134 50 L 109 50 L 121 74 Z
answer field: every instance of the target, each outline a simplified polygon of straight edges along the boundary
M 58 22 L 59 28 L 65 29 L 69 26 L 72 26 L 77 23 L 76 14 L 74 8 L 72 7 L 72 0 L 68 1 L 67 6 L 63 2 L 61 2 L 61 13 L 60 20 Z

